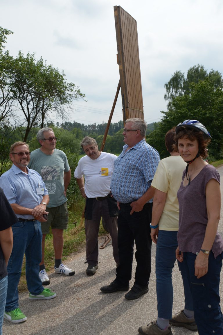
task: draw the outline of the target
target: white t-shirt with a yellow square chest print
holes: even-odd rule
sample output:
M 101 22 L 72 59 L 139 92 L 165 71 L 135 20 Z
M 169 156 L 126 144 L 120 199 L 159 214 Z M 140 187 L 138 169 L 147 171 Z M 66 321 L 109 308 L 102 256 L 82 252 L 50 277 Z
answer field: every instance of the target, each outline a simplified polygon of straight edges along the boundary
M 85 178 L 85 194 L 88 198 L 105 197 L 111 191 L 111 177 L 116 155 L 101 152 L 97 159 L 82 157 L 75 169 L 74 177 Z

